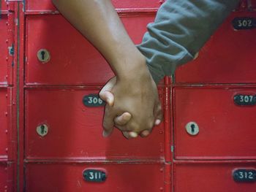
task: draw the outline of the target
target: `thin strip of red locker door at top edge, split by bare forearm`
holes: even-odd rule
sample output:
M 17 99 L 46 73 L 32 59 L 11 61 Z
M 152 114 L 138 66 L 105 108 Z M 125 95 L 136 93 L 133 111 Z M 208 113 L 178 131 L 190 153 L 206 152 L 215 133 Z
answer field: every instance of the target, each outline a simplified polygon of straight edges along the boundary
M 157 9 L 164 0 L 131 0 L 118 1 L 113 0 L 113 5 L 117 9 Z M 56 8 L 51 3 L 51 0 L 41 0 L 40 3 L 36 0 L 26 0 L 26 11 L 28 12 L 45 12 L 56 11 Z

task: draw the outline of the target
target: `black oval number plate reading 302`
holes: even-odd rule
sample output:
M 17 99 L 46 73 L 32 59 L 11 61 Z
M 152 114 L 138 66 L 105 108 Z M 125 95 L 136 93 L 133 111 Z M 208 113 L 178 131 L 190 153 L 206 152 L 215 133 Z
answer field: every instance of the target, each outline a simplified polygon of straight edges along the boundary
M 252 29 L 256 26 L 256 18 L 234 18 L 232 23 L 237 30 Z

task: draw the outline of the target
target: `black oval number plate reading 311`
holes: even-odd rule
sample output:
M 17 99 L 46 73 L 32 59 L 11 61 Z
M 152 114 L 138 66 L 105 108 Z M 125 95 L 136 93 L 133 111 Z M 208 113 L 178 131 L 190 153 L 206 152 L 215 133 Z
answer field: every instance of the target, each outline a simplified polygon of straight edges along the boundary
M 107 174 L 102 170 L 87 169 L 83 172 L 83 178 L 89 182 L 102 183 L 107 179 Z

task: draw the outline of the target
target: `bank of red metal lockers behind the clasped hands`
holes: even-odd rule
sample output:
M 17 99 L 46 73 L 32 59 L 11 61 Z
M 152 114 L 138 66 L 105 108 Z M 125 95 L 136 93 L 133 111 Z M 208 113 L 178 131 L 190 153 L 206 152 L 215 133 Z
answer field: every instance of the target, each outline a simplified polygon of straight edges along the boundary
M 113 0 L 135 43 L 163 2 Z M 51 1 L 0 10 L 0 191 L 256 191 L 255 0 L 160 82 L 165 120 L 129 141 L 102 137 L 113 72 Z

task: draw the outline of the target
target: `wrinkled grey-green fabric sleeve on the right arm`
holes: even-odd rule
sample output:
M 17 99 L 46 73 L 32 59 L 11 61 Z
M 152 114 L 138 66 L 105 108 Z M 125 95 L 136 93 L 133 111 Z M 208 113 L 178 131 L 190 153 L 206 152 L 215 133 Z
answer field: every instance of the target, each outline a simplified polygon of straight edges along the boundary
M 138 49 L 146 56 L 155 82 L 191 61 L 238 0 L 167 0 Z

